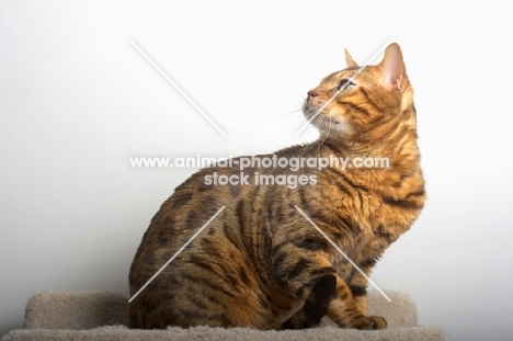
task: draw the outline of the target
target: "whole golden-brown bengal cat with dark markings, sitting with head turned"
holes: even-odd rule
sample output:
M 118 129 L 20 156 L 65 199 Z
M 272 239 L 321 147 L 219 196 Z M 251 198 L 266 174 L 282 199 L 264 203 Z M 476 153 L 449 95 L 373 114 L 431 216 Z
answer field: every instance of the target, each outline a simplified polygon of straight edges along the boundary
M 366 277 L 311 223 L 367 275 L 410 228 L 425 200 L 413 90 L 397 44 L 377 65 L 345 58 L 347 68 L 304 102 L 319 139 L 259 158 L 388 158 L 388 167 L 255 164 L 233 185 L 215 184 L 213 174 L 237 179 L 241 158 L 200 170 L 152 218 L 132 263 L 130 295 L 225 208 L 134 298 L 132 328 L 300 329 L 324 315 L 343 328 L 386 328 L 383 317 L 366 316 Z M 303 181 L 255 184 L 255 174 Z

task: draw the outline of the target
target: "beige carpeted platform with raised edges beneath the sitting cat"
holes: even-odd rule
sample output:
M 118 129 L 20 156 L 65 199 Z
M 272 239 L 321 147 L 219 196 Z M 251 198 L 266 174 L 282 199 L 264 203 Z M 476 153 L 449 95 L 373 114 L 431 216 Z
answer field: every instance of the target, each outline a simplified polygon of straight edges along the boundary
M 389 328 L 378 331 L 341 329 L 326 320 L 324 326 L 307 330 L 261 331 L 250 328 L 168 328 L 128 329 L 126 292 L 42 292 L 25 310 L 25 329 L 13 330 L 1 341 L 27 340 L 447 340 L 437 327 L 418 326 L 415 304 L 403 293 L 368 294 L 369 315 L 387 318 Z

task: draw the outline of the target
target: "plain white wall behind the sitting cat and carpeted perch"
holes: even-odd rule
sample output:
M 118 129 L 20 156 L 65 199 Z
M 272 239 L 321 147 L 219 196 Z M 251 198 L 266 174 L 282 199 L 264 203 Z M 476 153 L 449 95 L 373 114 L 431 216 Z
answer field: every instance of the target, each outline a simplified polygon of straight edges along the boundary
M 410 293 L 453 340 L 513 332 L 511 22 L 506 8 L 425 2 L 0 2 L 0 336 L 42 289 L 127 287 L 149 219 L 194 170 L 136 156 L 270 152 L 306 91 L 403 49 L 429 202 L 373 279 Z M 378 4 L 379 3 L 379 4 Z M 223 137 L 129 44 L 227 133 Z

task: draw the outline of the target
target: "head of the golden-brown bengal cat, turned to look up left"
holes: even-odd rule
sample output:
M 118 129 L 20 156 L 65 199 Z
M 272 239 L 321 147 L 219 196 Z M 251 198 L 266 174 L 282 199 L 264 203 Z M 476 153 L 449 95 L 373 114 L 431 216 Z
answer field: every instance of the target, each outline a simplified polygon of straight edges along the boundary
M 383 60 L 360 67 L 345 50 L 347 68 L 331 73 L 308 91 L 306 118 L 321 136 L 356 144 L 384 139 L 401 122 L 414 122 L 413 90 L 398 44 Z

